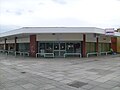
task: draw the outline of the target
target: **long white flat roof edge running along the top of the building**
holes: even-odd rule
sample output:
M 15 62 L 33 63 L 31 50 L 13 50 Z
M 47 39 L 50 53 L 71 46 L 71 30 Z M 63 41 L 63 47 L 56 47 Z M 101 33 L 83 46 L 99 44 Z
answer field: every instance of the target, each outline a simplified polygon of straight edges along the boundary
M 105 34 L 105 29 L 96 27 L 23 27 L 12 31 L 0 33 L 0 37 L 17 36 L 21 34 L 40 34 L 40 33 L 96 33 Z M 120 34 L 115 33 L 117 36 Z

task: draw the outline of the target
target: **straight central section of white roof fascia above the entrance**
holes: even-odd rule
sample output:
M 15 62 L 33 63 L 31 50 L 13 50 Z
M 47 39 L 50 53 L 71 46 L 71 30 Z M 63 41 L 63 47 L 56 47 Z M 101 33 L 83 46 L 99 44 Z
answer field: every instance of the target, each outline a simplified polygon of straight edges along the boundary
M 94 28 L 85 27 L 45 27 L 23 28 L 23 33 L 94 33 Z

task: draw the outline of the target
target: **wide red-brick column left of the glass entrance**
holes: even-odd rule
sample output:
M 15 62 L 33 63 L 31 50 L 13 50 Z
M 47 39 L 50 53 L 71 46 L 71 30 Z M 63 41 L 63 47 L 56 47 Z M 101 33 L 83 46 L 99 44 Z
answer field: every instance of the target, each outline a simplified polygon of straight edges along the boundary
M 35 57 L 37 52 L 36 35 L 30 35 L 30 56 Z

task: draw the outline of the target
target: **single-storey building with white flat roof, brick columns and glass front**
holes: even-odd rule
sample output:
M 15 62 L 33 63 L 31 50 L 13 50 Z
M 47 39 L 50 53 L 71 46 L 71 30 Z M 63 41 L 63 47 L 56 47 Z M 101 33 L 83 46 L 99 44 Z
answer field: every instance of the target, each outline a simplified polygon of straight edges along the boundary
M 0 34 L 0 51 L 40 57 L 106 54 L 115 45 L 105 29 L 96 27 L 23 27 Z

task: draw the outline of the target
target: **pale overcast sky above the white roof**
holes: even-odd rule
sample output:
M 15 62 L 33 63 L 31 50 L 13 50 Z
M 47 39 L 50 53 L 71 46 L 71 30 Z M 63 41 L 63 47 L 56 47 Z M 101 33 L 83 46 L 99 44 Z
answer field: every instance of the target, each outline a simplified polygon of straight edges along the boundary
M 0 25 L 120 27 L 120 0 L 0 0 Z

